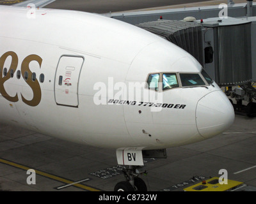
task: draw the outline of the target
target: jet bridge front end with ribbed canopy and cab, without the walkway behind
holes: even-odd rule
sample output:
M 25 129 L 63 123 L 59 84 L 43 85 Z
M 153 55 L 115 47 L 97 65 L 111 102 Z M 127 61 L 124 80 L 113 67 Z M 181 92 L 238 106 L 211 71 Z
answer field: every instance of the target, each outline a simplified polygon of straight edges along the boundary
M 193 55 L 214 81 L 225 87 L 226 94 L 236 99 L 237 111 L 255 115 L 252 99 L 256 99 L 256 89 L 252 83 L 256 81 L 256 17 L 206 18 L 192 22 L 156 20 L 137 26 Z M 237 92 L 238 89 L 243 92 Z M 243 101 L 248 103 L 247 107 L 242 105 Z

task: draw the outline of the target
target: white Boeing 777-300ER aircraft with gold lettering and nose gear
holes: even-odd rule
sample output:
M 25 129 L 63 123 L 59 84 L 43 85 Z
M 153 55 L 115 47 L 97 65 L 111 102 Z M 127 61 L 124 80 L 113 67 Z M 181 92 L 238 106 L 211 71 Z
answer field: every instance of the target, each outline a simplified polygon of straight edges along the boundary
M 116 149 L 127 181 L 147 190 L 143 156 L 219 135 L 234 122 L 220 87 L 190 54 L 113 18 L 0 6 L 0 121 Z

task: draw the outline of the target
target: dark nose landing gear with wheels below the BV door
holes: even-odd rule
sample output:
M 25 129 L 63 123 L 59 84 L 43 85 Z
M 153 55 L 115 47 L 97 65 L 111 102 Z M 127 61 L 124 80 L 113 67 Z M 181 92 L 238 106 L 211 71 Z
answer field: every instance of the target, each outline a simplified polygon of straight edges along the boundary
M 114 191 L 147 191 L 147 185 L 138 176 L 147 171 L 140 171 L 136 166 L 128 166 L 124 168 L 124 176 L 126 181 L 116 184 Z

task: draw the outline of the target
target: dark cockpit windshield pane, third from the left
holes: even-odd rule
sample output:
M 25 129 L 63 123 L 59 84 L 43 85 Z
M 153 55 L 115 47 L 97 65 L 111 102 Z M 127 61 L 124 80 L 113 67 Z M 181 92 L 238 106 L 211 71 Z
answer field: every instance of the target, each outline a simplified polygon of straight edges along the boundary
M 196 85 L 205 85 L 204 80 L 198 74 L 180 73 L 182 87 L 192 87 Z

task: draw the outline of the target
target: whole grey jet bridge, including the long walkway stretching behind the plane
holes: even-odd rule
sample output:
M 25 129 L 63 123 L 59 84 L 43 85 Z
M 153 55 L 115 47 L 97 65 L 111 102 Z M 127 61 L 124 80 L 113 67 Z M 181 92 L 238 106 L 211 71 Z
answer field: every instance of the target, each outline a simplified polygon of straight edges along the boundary
M 105 15 L 137 25 L 189 52 L 225 87 L 236 112 L 256 116 L 256 3 L 227 0 L 225 6 L 226 17 L 220 15 L 221 5 Z M 185 21 L 186 17 L 194 20 Z

